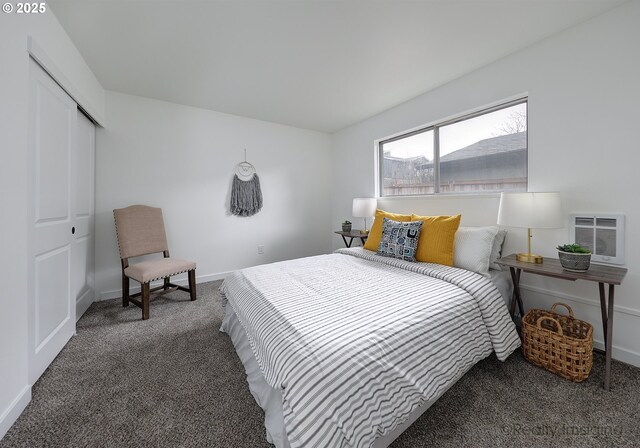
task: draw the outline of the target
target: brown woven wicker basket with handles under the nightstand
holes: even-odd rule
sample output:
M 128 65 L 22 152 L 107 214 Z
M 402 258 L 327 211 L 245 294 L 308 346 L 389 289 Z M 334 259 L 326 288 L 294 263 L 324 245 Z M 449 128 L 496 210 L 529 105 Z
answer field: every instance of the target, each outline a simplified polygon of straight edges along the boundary
M 569 315 L 556 313 L 558 305 Z M 571 381 L 584 381 L 593 360 L 593 327 L 574 318 L 564 303 L 554 303 L 551 311 L 529 310 L 522 319 L 522 352 L 537 366 Z

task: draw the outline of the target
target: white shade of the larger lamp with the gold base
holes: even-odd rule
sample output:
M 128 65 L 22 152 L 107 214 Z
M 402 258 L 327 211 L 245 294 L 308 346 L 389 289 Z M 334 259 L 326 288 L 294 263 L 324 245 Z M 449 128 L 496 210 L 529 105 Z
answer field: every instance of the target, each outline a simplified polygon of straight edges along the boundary
M 532 229 L 562 228 L 564 216 L 560 193 L 502 193 L 498 224 Z

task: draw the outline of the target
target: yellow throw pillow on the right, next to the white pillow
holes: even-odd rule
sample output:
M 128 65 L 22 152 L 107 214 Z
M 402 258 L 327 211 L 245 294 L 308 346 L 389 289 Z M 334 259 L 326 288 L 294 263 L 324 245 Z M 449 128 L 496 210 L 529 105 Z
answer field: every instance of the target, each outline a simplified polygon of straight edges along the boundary
M 411 221 L 422 221 L 422 230 L 416 250 L 416 260 L 453 266 L 453 245 L 460 226 L 461 215 L 418 216 Z

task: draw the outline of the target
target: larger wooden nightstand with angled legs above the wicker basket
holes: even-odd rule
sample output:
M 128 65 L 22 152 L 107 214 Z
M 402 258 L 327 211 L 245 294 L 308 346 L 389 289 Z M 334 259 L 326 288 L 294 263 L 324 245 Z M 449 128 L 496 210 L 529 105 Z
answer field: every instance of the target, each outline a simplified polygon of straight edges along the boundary
M 511 254 L 507 257 L 496 260 L 500 266 L 508 267 L 511 271 L 511 280 L 513 281 L 513 296 L 511 297 L 511 306 L 509 312 L 513 317 L 516 311 L 516 304 L 520 310 L 520 316 L 524 316 L 524 306 L 522 304 L 522 296 L 520 295 L 520 275 L 522 272 L 529 274 L 544 275 L 546 277 L 554 277 L 562 280 L 586 280 L 598 283 L 600 292 L 600 310 L 602 312 L 602 330 L 604 334 L 604 388 L 609 390 L 609 381 L 611 379 L 611 346 L 613 340 L 613 289 L 615 285 L 620 285 L 624 276 L 627 274 L 626 268 L 617 266 L 605 266 L 600 264 L 591 264 L 585 272 L 571 272 L 562 269 L 560 260 L 556 258 L 544 258 L 544 262 L 523 263 L 516 260 L 516 255 Z M 609 285 L 609 297 L 607 306 L 607 295 L 605 293 L 605 284 Z

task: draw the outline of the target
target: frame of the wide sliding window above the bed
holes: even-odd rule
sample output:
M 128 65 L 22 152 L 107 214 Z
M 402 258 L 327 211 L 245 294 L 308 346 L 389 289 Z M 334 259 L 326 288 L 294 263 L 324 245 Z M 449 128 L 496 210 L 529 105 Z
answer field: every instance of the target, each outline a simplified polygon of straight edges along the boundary
M 525 160 L 525 171 L 527 172 L 527 188 L 529 189 L 529 97 L 521 96 L 513 100 L 500 102 L 494 106 L 484 107 L 474 112 L 462 114 L 460 116 L 449 118 L 441 121 L 437 121 L 428 126 L 420 127 L 409 132 L 403 132 L 402 134 L 395 135 L 393 137 L 379 140 L 376 144 L 378 151 L 378 197 L 381 198 L 401 198 L 401 197 L 428 197 L 428 196 L 451 196 L 451 195 L 469 195 L 469 194 L 497 194 L 501 191 L 478 191 L 478 192 L 440 192 L 440 128 L 451 124 L 466 121 L 472 118 L 476 118 L 482 115 L 490 114 L 498 110 L 507 109 L 509 107 L 517 106 L 519 104 L 525 104 L 527 113 L 527 157 Z M 412 137 L 414 135 L 422 134 L 424 132 L 433 131 L 433 193 L 425 194 L 398 194 L 398 195 L 385 195 L 384 194 L 384 149 L 383 146 L 386 143 L 395 142 L 398 140 Z

